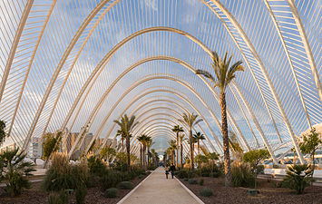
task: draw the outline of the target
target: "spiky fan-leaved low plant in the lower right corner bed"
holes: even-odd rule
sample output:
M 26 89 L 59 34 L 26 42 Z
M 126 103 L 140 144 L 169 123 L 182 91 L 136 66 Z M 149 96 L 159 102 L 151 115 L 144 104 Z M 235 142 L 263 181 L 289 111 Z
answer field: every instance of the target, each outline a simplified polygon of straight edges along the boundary
M 282 181 L 282 186 L 288 189 L 295 189 L 298 194 L 301 194 L 309 186 L 312 172 L 310 165 L 294 164 L 288 167 L 287 176 Z

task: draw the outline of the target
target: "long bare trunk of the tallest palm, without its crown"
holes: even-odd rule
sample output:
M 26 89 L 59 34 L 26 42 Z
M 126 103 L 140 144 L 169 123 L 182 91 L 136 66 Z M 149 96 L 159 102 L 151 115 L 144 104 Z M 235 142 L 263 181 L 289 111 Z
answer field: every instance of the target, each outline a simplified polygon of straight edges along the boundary
M 226 93 L 220 92 L 220 107 L 221 107 L 221 131 L 223 138 L 224 148 L 224 164 L 225 164 L 225 186 L 232 186 L 231 180 L 231 167 L 230 167 L 230 155 L 229 155 L 229 135 L 227 124 L 227 112 L 226 112 Z

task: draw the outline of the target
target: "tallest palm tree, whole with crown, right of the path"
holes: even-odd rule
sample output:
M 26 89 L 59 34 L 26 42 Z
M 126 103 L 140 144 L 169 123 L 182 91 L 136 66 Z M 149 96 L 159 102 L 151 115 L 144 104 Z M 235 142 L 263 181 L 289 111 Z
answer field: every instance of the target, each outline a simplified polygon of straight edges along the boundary
M 236 77 L 238 71 L 244 71 L 244 67 L 241 65 L 241 61 L 233 63 L 229 66 L 232 56 L 227 60 L 228 52 L 226 52 L 224 59 L 218 56 L 216 52 L 212 53 L 212 68 L 216 74 L 216 78 L 211 73 L 204 70 L 197 70 L 197 74 L 201 74 L 204 77 L 210 79 L 214 83 L 214 87 L 220 88 L 220 107 L 221 107 L 221 131 L 224 147 L 224 163 L 225 163 L 225 185 L 232 186 L 231 180 L 231 167 L 229 156 L 229 135 L 227 124 L 227 112 L 226 112 L 226 88 L 229 83 Z

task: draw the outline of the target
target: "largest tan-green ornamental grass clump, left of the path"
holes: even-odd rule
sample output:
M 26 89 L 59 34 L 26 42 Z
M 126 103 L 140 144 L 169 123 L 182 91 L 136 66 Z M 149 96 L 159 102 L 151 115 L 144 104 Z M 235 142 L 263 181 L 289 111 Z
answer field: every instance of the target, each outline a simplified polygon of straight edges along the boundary
M 59 191 L 61 189 L 76 189 L 88 182 L 89 170 L 87 162 L 70 164 L 68 157 L 61 153 L 54 153 L 52 165 L 46 171 L 42 189 Z

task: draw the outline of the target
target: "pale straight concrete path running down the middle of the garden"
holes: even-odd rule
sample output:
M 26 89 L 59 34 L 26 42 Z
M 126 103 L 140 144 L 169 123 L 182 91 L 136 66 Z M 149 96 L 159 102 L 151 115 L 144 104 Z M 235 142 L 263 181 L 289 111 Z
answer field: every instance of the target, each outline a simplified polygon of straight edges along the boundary
M 166 180 L 164 169 L 158 168 L 122 204 L 198 204 L 176 179 Z

